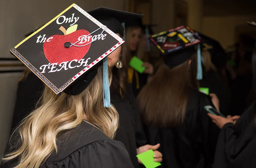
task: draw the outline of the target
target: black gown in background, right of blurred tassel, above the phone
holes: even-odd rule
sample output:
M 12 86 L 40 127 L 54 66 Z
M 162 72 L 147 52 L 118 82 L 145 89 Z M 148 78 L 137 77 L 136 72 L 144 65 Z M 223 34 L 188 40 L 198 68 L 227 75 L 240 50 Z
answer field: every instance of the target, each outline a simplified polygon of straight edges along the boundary
M 203 79 L 199 81 L 200 87 L 209 88 L 209 93 L 215 93 L 219 99 L 219 110 L 227 116 L 229 113 L 228 86 L 223 83 L 216 72 L 205 72 Z

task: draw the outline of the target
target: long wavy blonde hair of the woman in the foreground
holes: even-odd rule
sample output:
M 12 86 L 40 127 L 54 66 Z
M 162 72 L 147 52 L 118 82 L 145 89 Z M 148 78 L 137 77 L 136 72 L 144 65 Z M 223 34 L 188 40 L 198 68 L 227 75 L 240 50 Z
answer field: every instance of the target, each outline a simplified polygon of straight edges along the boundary
M 40 100 L 41 106 L 29 114 L 15 130 L 20 135 L 19 141 L 15 142 L 20 144 L 18 149 L 5 155 L 3 161 L 18 158 L 15 168 L 40 167 L 54 150 L 58 152 L 57 136 L 84 122 L 84 114 L 89 123 L 101 129 L 108 137 L 114 138 L 119 117 L 113 106 L 103 107 L 102 74 L 103 68 L 100 66 L 89 86 L 76 96 L 65 93 L 56 95 L 46 86 Z M 109 74 L 111 83 L 110 70 Z

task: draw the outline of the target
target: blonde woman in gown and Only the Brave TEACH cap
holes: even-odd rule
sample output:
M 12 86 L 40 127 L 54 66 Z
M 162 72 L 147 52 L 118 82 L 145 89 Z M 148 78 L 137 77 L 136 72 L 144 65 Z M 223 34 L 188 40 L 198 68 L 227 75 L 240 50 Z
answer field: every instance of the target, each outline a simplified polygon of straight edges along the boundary
M 12 134 L 1 168 L 133 167 L 113 140 L 118 113 L 109 92 L 107 56 L 123 42 L 73 4 L 10 50 L 46 87 L 41 106 Z

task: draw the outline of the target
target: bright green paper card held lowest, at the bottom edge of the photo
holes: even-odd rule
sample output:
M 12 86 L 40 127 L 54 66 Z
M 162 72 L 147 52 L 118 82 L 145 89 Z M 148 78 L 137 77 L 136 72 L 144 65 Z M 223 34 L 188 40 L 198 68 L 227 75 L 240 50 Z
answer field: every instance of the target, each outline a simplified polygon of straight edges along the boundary
M 154 151 L 152 149 L 137 155 L 137 158 L 146 168 L 155 168 L 161 166 L 161 163 L 154 162 Z

